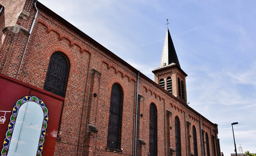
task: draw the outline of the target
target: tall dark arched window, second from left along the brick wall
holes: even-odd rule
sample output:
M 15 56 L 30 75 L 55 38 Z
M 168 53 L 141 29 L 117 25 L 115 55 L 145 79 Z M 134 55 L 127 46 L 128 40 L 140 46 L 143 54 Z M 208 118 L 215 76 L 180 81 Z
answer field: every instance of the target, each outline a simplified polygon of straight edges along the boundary
M 111 90 L 107 147 L 119 149 L 122 88 L 115 83 Z

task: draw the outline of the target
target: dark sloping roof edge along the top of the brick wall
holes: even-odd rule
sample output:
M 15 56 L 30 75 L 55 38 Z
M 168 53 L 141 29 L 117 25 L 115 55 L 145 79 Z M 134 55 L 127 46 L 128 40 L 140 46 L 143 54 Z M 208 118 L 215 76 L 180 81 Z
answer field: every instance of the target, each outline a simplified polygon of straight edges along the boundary
M 88 35 L 86 35 L 85 33 L 83 33 L 81 30 L 79 30 L 78 28 L 76 28 L 75 26 L 73 26 L 71 23 L 69 23 L 68 21 L 66 21 L 65 19 L 63 19 L 61 16 L 59 16 L 58 14 L 54 13 L 52 10 L 50 10 L 49 8 L 47 8 L 46 6 L 44 6 L 42 3 L 40 3 L 39 1 L 36 3 L 36 6 L 38 6 L 39 8 L 41 8 L 44 12 L 46 12 L 47 14 L 49 14 L 50 16 L 52 16 L 54 19 L 58 20 L 59 22 L 61 22 L 62 24 L 64 24 L 65 26 L 67 26 L 68 28 L 72 29 L 75 33 L 78 33 L 79 35 L 81 35 L 83 38 L 85 38 L 86 40 L 88 40 L 89 42 L 93 43 L 96 47 L 100 48 L 101 50 L 105 51 L 107 54 L 109 54 L 110 56 L 114 57 L 117 61 L 121 62 L 122 64 L 126 65 L 128 68 L 130 68 L 132 71 L 134 71 L 135 73 L 138 73 L 139 70 L 135 69 L 133 66 L 131 66 L 130 64 L 128 64 L 127 62 L 125 62 L 123 59 L 121 59 L 120 57 L 118 57 L 117 55 L 115 55 L 113 52 L 111 52 L 110 50 L 108 50 L 107 48 L 103 47 L 103 45 L 101 45 L 100 43 L 98 43 L 97 41 L 93 40 L 93 38 L 89 37 Z M 180 99 L 178 99 L 177 97 L 175 97 L 173 94 L 169 93 L 167 90 L 165 90 L 164 88 L 162 88 L 159 84 L 155 83 L 153 80 L 151 80 L 150 78 L 148 78 L 146 75 L 144 75 L 143 73 L 140 72 L 140 76 L 143 77 L 144 79 L 148 80 L 150 83 L 152 83 L 153 85 L 155 85 L 156 87 L 158 87 L 160 90 L 162 90 L 163 92 L 165 92 L 166 94 L 170 95 L 172 98 L 176 99 L 177 101 L 179 101 L 181 104 L 183 104 L 184 106 L 188 107 L 191 111 L 195 112 L 197 115 L 200 115 L 200 113 L 196 112 L 193 108 L 189 107 L 187 104 L 185 104 L 183 101 L 181 101 Z M 214 125 L 213 122 L 209 121 L 208 119 L 206 119 L 204 116 L 202 116 L 202 118 L 204 118 L 205 120 L 207 120 L 208 122 L 212 123 Z

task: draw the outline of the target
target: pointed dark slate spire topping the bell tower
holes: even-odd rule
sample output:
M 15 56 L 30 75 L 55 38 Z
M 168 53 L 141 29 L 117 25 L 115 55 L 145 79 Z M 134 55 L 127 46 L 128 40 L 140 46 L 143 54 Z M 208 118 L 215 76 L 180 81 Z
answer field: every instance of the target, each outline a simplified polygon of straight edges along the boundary
M 177 64 L 177 66 L 181 68 L 180 63 L 178 62 L 178 57 L 177 57 L 174 45 L 173 45 L 173 40 L 171 40 L 171 35 L 169 32 L 169 29 L 167 28 L 159 68 L 168 66 L 171 63 L 175 63 Z

